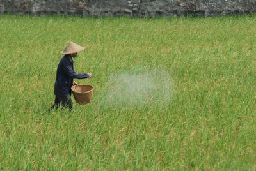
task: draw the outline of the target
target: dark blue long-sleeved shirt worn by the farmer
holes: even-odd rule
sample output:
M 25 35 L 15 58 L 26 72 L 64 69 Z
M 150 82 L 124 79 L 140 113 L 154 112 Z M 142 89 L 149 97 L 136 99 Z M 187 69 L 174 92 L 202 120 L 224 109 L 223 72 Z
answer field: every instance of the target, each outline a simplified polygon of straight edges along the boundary
M 75 73 L 73 60 L 65 55 L 61 58 L 58 64 L 56 81 L 54 85 L 54 94 L 56 96 L 67 96 L 71 95 L 71 87 L 73 84 L 73 79 L 84 79 L 89 78 L 87 73 Z

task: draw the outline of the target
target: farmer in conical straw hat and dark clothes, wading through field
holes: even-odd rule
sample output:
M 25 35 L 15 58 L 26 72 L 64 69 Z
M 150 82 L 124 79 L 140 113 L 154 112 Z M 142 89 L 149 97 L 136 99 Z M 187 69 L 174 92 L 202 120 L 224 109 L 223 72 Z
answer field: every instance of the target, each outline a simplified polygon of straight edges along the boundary
M 68 46 L 61 52 L 64 56 L 58 64 L 56 81 L 54 85 L 55 103 L 51 108 L 57 109 L 60 105 L 68 107 L 72 110 L 71 87 L 77 85 L 76 79 L 91 78 L 92 73 L 75 73 L 73 59 L 77 56 L 77 52 L 84 50 L 84 47 L 70 42 Z

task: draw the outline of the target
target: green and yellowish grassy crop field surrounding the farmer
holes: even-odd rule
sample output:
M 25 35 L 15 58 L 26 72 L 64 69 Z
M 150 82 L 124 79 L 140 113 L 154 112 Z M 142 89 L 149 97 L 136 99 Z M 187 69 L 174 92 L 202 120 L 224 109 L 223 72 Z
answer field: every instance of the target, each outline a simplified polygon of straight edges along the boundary
M 255 170 L 255 17 L 0 16 L 0 170 Z M 47 113 L 68 41 L 92 103 Z

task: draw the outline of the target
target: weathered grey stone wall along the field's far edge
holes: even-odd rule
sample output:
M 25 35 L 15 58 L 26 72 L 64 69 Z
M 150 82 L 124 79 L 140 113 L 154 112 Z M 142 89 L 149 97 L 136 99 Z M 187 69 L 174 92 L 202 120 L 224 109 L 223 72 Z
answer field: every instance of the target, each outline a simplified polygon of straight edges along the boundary
M 256 0 L 0 0 L 0 13 L 29 15 L 243 15 L 256 13 Z

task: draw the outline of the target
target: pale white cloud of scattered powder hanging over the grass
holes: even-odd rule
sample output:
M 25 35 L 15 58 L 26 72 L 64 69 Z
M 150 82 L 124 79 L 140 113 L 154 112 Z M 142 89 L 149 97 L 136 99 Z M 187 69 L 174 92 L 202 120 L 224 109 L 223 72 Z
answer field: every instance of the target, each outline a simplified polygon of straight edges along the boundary
M 172 79 L 166 71 L 118 73 L 109 77 L 104 103 L 108 107 L 145 107 L 171 103 Z

